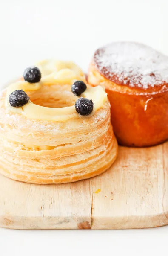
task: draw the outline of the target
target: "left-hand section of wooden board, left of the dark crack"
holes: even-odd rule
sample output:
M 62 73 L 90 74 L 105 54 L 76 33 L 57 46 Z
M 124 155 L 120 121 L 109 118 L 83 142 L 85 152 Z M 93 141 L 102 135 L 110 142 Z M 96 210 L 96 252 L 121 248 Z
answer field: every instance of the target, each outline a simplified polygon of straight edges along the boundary
M 91 227 L 91 192 L 85 183 L 26 184 L 0 176 L 0 226 L 14 229 Z

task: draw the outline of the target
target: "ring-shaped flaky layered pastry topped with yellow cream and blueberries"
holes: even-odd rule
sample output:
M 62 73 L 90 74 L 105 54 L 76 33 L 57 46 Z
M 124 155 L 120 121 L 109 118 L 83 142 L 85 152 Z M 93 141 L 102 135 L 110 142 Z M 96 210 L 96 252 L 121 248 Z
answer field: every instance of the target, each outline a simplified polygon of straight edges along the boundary
M 0 173 L 37 184 L 94 177 L 117 157 L 110 103 L 69 61 L 29 67 L 0 96 Z

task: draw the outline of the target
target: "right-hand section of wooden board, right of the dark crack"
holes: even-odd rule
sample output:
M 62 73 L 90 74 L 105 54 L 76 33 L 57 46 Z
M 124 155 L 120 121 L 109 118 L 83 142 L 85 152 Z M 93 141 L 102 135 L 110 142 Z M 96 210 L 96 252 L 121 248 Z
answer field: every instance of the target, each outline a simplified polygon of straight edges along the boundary
M 93 229 L 168 224 L 166 152 L 168 144 L 143 149 L 120 147 L 113 171 L 91 181 L 93 187 L 101 189 L 101 193 L 93 194 Z

